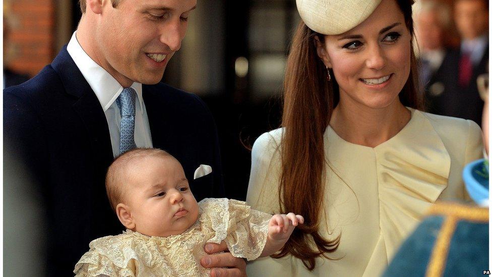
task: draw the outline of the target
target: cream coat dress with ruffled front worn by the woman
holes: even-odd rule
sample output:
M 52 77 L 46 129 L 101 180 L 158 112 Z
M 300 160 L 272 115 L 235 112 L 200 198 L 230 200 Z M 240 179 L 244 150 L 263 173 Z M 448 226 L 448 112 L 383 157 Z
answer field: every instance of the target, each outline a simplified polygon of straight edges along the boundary
M 349 143 L 328 127 L 327 168 L 321 234 L 340 245 L 328 260 L 307 270 L 299 259 L 265 257 L 247 265 L 248 276 L 379 276 L 402 240 L 437 200 L 468 199 L 461 172 L 482 155 L 481 130 L 469 120 L 410 109 L 408 124 L 394 137 L 366 147 Z M 247 202 L 280 211 L 278 145 L 282 129 L 253 146 Z M 335 171 L 337 175 L 333 173 Z

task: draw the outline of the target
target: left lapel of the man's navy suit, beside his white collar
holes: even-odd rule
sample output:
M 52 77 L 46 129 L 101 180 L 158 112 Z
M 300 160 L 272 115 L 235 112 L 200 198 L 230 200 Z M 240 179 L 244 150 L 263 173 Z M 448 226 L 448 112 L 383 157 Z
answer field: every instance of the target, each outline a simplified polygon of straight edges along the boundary
M 51 66 L 58 73 L 65 92 L 74 97 L 73 107 L 91 137 L 93 152 L 98 156 L 98 161 L 106 161 L 109 164 L 113 159 L 113 153 L 106 116 L 66 46 L 61 49 Z

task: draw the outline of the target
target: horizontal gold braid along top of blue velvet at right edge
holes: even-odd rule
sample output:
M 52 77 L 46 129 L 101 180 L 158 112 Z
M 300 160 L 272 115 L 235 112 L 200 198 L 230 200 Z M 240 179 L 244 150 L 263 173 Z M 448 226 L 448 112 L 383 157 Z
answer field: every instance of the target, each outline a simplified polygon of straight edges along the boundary
M 441 215 L 456 217 L 457 220 L 465 219 L 478 223 L 488 223 L 488 208 L 467 206 L 456 203 L 441 202 L 432 205 L 427 212 L 428 215 Z

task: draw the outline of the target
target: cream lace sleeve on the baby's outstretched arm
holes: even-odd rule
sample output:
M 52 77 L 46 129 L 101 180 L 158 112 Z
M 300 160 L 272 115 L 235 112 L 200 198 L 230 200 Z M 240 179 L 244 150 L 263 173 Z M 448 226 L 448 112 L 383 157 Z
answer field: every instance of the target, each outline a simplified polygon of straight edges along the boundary
M 252 210 L 246 202 L 225 198 L 205 199 L 204 204 L 202 214 L 210 218 L 215 231 L 207 242 L 225 241 L 234 257 L 254 260 L 261 255 L 272 215 Z

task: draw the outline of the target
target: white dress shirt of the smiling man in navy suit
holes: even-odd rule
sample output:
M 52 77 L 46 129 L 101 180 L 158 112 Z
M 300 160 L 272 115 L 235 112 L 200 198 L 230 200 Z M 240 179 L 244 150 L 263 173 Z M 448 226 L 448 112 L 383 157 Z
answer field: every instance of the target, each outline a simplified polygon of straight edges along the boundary
M 77 41 L 76 33 L 74 32 L 72 35 L 67 50 L 101 103 L 106 115 L 113 156 L 115 157 L 119 154 L 119 128 L 121 125 L 121 115 L 115 100 L 123 91 L 123 87 L 82 49 Z M 142 98 L 142 84 L 134 82 L 131 87 L 137 92 L 138 99 L 135 101 L 135 144 L 137 147 L 152 147 L 149 118 Z

